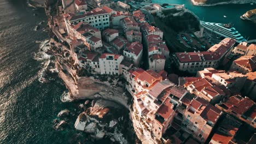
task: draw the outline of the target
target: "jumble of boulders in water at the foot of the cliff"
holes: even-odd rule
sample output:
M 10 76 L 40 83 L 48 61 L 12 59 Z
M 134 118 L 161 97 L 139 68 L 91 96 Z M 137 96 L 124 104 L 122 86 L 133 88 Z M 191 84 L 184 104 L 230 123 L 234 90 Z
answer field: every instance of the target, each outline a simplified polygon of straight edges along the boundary
M 130 119 L 120 115 L 125 111 L 117 103 L 99 99 L 86 112 L 80 113 L 74 127 L 89 134 L 95 140 L 106 138 L 117 143 L 129 143 L 131 139 L 134 141 L 135 134 L 132 131 L 126 134 L 127 129 L 132 127 L 126 125 L 130 123 Z

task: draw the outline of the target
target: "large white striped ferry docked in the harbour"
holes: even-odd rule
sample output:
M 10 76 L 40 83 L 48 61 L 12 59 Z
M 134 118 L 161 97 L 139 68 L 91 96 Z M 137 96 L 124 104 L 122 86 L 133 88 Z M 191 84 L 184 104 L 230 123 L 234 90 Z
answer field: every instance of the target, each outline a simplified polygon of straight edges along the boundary
M 246 41 L 246 39 L 243 38 L 243 36 L 238 31 L 236 31 L 234 27 L 230 25 L 230 23 L 223 24 L 205 21 L 200 21 L 200 23 L 201 26 L 203 26 L 205 29 L 208 29 L 209 31 L 219 34 L 225 38 L 233 38 L 236 40 L 237 43 Z

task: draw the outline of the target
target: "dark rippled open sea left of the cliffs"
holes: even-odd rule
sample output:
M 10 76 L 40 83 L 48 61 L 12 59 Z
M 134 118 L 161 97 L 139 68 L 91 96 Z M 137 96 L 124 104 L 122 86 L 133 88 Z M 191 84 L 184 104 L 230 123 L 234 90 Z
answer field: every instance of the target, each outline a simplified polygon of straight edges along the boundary
M 73 105 L 61 103 L 64 86 L 38 82 L 44 61 L 31 53 L 48 33 L 33 31 L 46 16 L 32 9 L 23 0 L 0 0 L 0 143 L 68 143 L 72 131 L 55 131 L 52 121 Z

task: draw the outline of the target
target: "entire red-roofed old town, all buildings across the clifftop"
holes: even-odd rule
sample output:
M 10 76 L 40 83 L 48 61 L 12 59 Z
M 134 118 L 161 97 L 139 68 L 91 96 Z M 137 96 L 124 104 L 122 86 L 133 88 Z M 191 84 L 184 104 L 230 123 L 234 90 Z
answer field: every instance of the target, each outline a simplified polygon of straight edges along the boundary
M 75 0 L 74 8 L 63 16 L 75 62 L 90 73 L 124 76 L 141 135 L 148 131 L 154 139 L 176 143 L 228 144 L 239 143 L 241 125 L 256 128 L 255 45 L 235 46 L 236 40 L 225 38 L 207 51 L 170 56 L 163 32 L 141 10 L 129 13 L 129 4 L 111 1 L 89 10 L 85 0 Z M 161 11 L 157 4 L 148 7 L 153 9 Z M 229 71 L 218 70 L 231 54 L 241 57 Z M 164 70 L 168 58 L 196 77 L 177 77 L 173 83 Z M 139 68 L 142 64 L 148 70 Z M 223 117 L 234 123 L 226 124 Z

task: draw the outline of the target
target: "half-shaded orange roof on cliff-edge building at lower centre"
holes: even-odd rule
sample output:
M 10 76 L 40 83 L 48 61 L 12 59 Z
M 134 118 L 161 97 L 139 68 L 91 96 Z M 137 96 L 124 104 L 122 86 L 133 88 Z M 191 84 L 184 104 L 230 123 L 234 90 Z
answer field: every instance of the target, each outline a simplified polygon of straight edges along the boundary
M 161 117 L 167 119 L 169 118 L 172 113 L 174 112 L 172 110 L 172 106 L 173 104 L 170 103 L 171 99 L 170 98 L 167 98 L 165 100 L 165 102 L 159 107 L 158 111 L 156 111 L 156 113 L 158 113 Z

